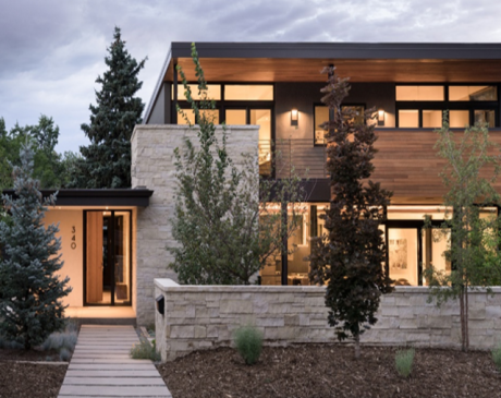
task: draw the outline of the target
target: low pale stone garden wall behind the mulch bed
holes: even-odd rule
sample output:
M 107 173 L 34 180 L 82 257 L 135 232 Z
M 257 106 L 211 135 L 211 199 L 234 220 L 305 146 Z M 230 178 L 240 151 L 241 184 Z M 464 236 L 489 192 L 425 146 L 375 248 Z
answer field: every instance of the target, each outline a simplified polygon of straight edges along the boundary
M 180 286 L 156 279 L 164 297 L 164 315 L 156 313 L 156 337 L 162 361 L 199 349 L 230 346 L 241 325 L 255 325 L 266 345 L 337 341 L 327 324 L 325 288 L 314 286 Z M 469 296 L 472 348 L 489 349 L 501 341 L 501 288 L 493 297 Z M 384 296 L 378 323 L 363 335 L 372 345 L 460 347 L 460 307 L 427 303 L 428 288 L 396 287 Z

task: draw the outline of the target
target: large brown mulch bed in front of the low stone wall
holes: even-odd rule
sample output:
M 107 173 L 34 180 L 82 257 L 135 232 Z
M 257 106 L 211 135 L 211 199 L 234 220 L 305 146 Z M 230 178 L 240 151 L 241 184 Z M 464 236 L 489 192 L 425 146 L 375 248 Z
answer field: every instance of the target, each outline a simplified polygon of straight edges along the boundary
M 230 348 L 198 351 L 158 366 L 174 398 L 500 397 L 501 374 L 489 352 L 417 349 L 401 377 L 396 349 L 300 345 L 265 348 L 247 366 Z

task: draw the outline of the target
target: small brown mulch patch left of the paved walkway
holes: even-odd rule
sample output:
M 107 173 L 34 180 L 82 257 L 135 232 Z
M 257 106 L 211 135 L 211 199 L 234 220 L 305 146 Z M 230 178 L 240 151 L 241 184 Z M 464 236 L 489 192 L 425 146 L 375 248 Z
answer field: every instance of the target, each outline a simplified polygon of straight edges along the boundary
M 68 365 L 0 361 L 0 397 L 56 398 Z

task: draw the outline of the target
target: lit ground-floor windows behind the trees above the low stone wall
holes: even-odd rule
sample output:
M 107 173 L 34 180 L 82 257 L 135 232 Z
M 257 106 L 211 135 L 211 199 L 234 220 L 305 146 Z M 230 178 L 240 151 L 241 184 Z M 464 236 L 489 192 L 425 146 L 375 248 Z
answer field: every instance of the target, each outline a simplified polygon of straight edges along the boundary
M 307 257 L 311 253 L 310 240 L 327 232 L 325 220 L 320 216 L 328 205 L 328 203 L 308 203 L 304 206 L 300 227 L 288 240 L 286 261 L 282 261 L 281 253 L 271 256 L 260 272 L 262 285 L 282 285 L 284 269 L 288 274 L 288 285 L 309 285 Z M 279 212 L 279 206 L 276 208 Z M 380 226 L 388 243 L 388 258 L 382 266 L 390 278 L 395 280 L 395 285 L 428 285 L 424 270 L 430 266 L 443 273 L 451 272 L 452 265 L 444 256 L 450 245 L 451 234 L 439 228 L 444 216 L 445 209 L 438 205 L 395 205 L 387 208 L 387 220 Z M 497 216 L 496 207 L 484 208 L 480 213 L 480 217 Z M 289 217 L 291 217 L 290 210 Z M 425 225 L 426 217 L 430 218 L 431 228 Z

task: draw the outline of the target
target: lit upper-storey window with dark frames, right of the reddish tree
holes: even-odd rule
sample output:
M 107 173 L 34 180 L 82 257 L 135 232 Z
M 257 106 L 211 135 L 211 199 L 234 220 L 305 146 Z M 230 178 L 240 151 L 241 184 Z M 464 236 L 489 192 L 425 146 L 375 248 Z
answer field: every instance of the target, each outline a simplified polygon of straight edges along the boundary
M 494 85 L 396 85 L 395 99 L 398 128 L 439 129 L 444 110 L 453 129 L 475 123 L 499 125 Z

